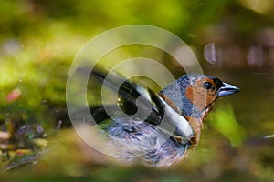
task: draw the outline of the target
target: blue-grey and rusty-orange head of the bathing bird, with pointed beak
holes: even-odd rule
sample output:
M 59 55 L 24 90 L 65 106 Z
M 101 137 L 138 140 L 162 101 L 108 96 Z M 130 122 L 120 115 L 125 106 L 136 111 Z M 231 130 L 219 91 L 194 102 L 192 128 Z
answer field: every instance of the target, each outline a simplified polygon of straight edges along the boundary
M 218 97 L 239 92 L 239 88 L 214 76 L 191 74 L 163 88 L 161 93 L 171 99 L 184 116 L 205 116 Z

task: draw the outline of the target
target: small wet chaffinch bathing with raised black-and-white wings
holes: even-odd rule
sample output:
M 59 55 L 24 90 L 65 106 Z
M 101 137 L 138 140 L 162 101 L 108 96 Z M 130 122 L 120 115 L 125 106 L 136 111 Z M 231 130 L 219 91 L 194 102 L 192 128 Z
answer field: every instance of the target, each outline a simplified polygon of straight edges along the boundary
M 218 97 L 239 88 L 214 76 L 179 77 L 159 93 L 111 71 L 91 76 L 117 92 L 117 105 L 93 106 L 90 112 L 108 144 L 127 164 L 172 167 L 184 161 L 199 142 L 205 117 Z

